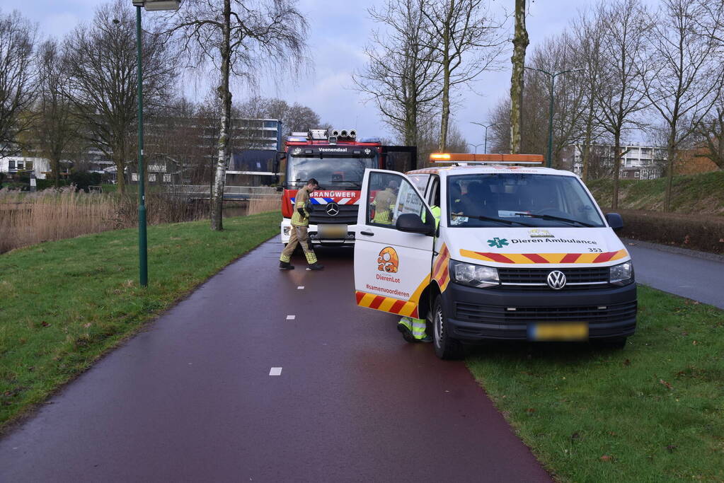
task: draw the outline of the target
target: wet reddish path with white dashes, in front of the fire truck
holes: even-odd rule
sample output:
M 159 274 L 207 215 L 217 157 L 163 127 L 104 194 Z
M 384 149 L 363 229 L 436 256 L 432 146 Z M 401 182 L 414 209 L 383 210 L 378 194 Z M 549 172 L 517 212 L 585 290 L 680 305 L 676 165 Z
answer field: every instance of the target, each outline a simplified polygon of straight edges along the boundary
M 280 272 L 280 247 L 224 269 L 0 440 L 0 481 L 550 481 L 463 362 L 355 306 L 349 251 Z

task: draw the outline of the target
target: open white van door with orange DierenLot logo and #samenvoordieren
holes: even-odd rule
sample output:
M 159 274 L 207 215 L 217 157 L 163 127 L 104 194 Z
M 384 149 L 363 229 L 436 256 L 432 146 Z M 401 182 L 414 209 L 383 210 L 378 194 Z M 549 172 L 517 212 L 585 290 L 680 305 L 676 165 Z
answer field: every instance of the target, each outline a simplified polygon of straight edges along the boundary
M 368 169 L 355 240 L 355 294 L 361 307 L 418 317 L 430 281 L 435 222 L 407 176 Z

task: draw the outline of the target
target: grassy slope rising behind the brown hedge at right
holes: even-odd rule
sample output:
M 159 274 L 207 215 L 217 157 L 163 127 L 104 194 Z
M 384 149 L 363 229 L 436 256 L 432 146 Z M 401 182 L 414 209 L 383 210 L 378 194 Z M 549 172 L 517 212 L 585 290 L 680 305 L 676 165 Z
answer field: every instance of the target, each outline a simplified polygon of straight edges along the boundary
M 628 210 L 661 211 L 667 183 L 667 178 L 622 179 L 618 205 Z M 599 205 L 611 205 L 613 179 L 597 179 L 587 185 Z M 674 176 L 671 207 L 678 213 L 724 216 L 724 171 Z

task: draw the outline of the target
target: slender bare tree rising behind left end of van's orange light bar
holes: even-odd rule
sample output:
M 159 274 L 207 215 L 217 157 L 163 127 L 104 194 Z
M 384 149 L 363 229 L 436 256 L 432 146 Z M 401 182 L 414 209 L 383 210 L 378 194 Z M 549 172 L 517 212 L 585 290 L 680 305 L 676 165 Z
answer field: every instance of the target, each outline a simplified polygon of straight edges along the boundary
M 484 0 L 442 0 L 423 10 L 431 39 L 429 48 L 442 70 L 439 150 L 447 148 L 451 93 L 491 69 L 502 54 L 502 22 Z

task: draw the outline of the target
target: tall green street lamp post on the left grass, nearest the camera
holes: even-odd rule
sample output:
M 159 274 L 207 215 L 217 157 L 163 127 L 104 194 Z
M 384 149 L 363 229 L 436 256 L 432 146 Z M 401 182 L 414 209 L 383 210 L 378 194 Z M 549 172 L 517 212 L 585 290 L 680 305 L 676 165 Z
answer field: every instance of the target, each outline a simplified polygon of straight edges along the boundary
M 141 68 L 140 9 L 147 12 L 177 10 L 181 0 L 132 0 L 136 7 L 136 90 L 138 93 L 138 283 L 148 286 L 148 237 L 146 236 L 146 169 L 143 166 L 143 69 Z M 123 176 L 123 174 L 120 174 Z

